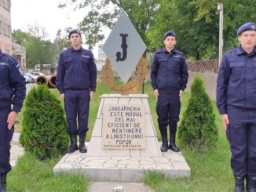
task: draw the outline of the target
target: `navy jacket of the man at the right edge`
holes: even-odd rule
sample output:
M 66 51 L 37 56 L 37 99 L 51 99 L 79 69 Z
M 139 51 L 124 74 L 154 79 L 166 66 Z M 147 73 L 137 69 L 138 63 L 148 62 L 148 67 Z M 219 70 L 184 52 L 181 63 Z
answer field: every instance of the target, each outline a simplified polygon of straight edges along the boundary
M 241 47 L 224 54 L 217 78 L 217 106 L 256 109 L 256 47 L 247 54 Z

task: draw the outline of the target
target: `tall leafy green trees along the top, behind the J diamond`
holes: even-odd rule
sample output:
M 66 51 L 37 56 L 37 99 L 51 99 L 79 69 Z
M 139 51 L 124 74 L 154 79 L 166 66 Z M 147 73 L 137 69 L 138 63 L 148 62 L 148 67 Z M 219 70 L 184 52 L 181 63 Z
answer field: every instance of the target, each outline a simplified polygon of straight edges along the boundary
M 141 38 L 153 52 L 163 47 L 163 34 L 177 33 L 177 49 L 195 60 L 218 57 L 218 2 L 224 4 L 224 51 L 238 45 L 237 29 L 256 20 L 256 0 L 62 0 L 60 8 L 75 5 L 90 9 L 79 24 L 90 49 L 104 39 L 102 29 L 112 28 L 120 11 L 125 11 Z M 249 6 L 250 5 L 250 6 Z

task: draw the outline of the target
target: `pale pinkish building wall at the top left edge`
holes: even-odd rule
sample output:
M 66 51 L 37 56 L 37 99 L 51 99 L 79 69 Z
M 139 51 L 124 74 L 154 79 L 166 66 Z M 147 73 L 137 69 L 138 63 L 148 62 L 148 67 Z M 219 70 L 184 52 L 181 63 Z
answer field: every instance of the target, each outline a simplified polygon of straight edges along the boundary
M 0 0 L 0 48 L 3 53 L 13 54 L 11 0 Z

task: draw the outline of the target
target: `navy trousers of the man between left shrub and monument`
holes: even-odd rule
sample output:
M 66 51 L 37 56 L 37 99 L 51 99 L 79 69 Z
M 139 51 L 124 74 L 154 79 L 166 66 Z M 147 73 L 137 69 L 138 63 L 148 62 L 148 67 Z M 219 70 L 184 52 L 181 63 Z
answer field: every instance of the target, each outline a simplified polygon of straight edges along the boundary
M 64 108 L 68 121 L 68 134 L 84 136 L 88 131 L 90 109 L 89 89 L 66 89 Z M 79 126 L 77 126 L 77 120 Z

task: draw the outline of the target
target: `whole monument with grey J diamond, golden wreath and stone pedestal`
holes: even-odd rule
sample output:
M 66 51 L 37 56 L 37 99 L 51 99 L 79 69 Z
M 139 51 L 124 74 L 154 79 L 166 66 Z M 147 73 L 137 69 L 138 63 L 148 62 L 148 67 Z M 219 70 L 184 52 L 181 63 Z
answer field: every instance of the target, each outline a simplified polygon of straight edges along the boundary
M 104 94 L 87 154 L 65 154 L 53 172 L 82 172 L 94 181 L 139 182 L 147 170 L 167 176 L 190 176 L 181 152 L 159 149 L 148 95 L 136 94 L 148 75 L 146 45 L 126 13 L 119 15 L 103 46 L 108 57 L 101 82 L 119 94 Z M 115 86 L 113 67 L 123 81 Z M 136 78 L 132 79 L 131 74 Z

